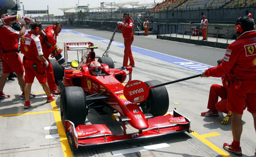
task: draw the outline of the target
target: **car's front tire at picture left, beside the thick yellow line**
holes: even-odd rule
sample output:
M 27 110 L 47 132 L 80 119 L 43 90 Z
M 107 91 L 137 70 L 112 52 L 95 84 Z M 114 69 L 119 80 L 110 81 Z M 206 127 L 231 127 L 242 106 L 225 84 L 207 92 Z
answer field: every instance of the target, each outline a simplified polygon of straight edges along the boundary
M 65 87 L 61 92 L 60 116 L 63 125 L 65 120 L 72 121 L 75 127 L 84 124 L 86 119 L 86 97 L 81 87 Z

